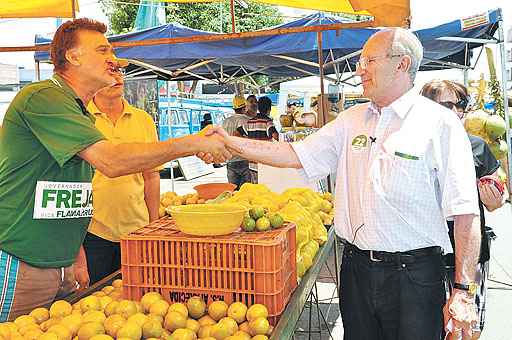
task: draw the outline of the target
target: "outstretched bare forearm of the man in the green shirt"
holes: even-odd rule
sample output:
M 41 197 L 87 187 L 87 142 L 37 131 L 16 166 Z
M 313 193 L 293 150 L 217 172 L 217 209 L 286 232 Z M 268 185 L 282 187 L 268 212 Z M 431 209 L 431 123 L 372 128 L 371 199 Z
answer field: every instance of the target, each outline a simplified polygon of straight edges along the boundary
M 156 168 L 179 157 L 197 153 L 194 136 L 156 143 L 113 144 L 101 141 L 89 146 L 79 156 L 108 177 L 118 177 Z

